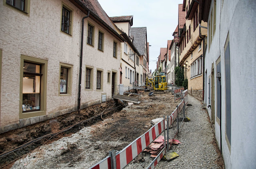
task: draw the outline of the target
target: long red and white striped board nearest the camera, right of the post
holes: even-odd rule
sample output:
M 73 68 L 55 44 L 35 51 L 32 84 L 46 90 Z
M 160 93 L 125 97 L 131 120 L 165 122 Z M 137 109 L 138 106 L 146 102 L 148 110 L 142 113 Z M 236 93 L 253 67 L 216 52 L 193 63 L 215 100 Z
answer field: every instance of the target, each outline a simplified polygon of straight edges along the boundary
M 137 157 L 150 143 L 152 143 L 164 130 L 164 120 L 154 125 L 148 132 L 134 140 L 124 149 L 116 153 L 116 169 L 123 169 Z

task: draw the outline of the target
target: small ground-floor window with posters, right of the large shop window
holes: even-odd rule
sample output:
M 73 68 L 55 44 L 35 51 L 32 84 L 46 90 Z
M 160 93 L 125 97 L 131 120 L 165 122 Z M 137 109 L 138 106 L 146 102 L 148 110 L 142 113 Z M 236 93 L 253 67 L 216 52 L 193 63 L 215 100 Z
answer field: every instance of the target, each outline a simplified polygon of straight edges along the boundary
M 71 94 L 72 86 L 72 65 L 60 63 L 60 94 Z

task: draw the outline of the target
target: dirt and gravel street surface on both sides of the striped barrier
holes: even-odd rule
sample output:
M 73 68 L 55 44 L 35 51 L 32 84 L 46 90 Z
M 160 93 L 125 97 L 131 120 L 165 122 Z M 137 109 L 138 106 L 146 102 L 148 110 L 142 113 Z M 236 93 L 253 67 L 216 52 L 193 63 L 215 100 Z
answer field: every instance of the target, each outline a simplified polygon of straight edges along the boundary
M 182 142 L 172 149 L 180 157 L 167 163 L 161 160 L 158 169 L 178 168 L 221 168 L 218 155 L 212 144 L 214 135 L 207 120 L 207 114 L 201 110 L 198 100 L 189 97 L 186 114 L 190 122 L 183 122 L 178 139 Z M 112 149 L 122 150 L 150 127 L 150 120 L 170 115 L 178 102 L 170 92 L 148 96 L 145 92 L 140 104 L 133 104 L 114 113 L 112 117 L 90 127 L 82 128 L 69 137 L 38 147 L 26 157 L 16 161 L 13 167 L 19 168 L 88 168 L 108 155 Z M 138 159 L 140 158 L 140 159 Z M 127 168 L 148 166 L 150 161 L 140 155 Z M 144 160 L 142 160 L 144 159 Z

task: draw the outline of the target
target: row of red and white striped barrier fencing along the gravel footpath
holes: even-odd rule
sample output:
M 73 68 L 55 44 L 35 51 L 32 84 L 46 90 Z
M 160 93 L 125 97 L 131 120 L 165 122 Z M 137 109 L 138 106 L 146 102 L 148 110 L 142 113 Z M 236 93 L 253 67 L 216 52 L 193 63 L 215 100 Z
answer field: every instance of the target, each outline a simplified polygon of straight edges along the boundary
M 89 169 L 123 169 L 142 152 L 147 154 L 149 158 L 154 158 L 147 167 L 147 169 L 154 169 L 165 153 L 169 151 L 185 118 L 185 106 L 188 104 L 187 91 L 182 92 L 182 101 L 170 116 L 167 116 L 167 124 L 165 124 L 164 117 L 163 120 L 132 141 L 124 149 L 118 152 L 112 150 L 110 155 Z

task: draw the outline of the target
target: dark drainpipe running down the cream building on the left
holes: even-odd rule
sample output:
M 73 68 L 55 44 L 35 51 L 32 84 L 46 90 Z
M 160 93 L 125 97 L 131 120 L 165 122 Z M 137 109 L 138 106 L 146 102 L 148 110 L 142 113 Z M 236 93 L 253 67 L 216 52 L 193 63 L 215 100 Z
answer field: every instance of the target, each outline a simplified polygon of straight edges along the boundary
M 83 42 L 84 42 L 84 19 L 88 18 L 90 15 L 90 11 L 88 11 L 87 15 L 82 18 L 82 34 L 81 34 L 81 53 L 80 53 L 80 70 L 79 70 L 79 86 L 78 86 L 78 114 L 80 114 L 81 107 L 81 81 L 82 81 L 82 61 L 83 61 Z

